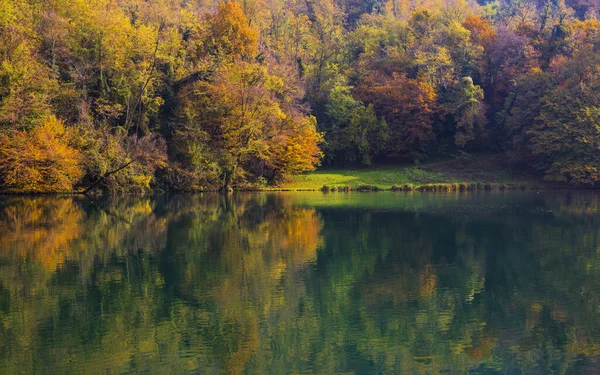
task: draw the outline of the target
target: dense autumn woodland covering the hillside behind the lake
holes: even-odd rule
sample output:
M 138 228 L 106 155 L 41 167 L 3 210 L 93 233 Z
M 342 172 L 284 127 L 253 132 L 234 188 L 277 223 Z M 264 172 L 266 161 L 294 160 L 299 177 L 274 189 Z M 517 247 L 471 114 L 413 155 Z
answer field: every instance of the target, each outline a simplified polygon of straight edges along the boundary
M 0 187 L 277 185 L 501 152 L 600 181 L 600 5 L 0 0 Z

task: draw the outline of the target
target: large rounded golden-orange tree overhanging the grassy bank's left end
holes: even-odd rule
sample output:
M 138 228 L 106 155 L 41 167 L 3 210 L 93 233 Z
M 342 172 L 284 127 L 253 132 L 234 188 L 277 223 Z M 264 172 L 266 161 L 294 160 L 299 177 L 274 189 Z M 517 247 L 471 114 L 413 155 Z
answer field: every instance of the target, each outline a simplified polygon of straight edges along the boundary
M 220 70 L 214 82 L 188 90 L 193 96 L 180 112 L 180 134 L 197 136 L 196 142 L 180 143 L 188 157 L 195 149 L 213 153 L 209 159 L 219 166 L 222 189 L 245 181 L 249 173 L 280 180 L 314 168 L 320 159 L 315 122 L 299 107 L 297 93 L 266 67 L 240 62 Z

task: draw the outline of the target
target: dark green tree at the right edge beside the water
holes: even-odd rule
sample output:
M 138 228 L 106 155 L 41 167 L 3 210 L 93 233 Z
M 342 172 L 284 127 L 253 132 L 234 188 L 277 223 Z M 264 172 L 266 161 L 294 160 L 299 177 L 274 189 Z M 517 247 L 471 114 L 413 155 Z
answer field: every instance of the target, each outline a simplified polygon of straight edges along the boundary
M 581 51 L 555 67 L 557 85 L 527 132 L 534 165 L 552 181 L 600 180 L 600 54 Z

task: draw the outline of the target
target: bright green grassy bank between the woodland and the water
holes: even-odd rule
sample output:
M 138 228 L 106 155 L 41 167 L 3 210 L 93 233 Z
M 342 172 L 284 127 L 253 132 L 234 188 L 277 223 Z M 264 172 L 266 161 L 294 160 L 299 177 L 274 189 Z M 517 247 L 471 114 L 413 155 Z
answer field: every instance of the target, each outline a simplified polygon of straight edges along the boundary
M 282 190 L 468 191 L 538 188 L 539 178 L 507 165 L 501 156 L 473 157 L 421 166 L 321 169 L 294 177 Z

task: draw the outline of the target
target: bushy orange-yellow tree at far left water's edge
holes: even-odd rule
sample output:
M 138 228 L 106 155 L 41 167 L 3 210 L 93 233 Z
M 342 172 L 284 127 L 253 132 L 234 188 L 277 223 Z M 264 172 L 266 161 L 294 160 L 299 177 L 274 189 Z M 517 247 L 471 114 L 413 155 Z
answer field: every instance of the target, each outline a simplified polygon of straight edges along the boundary
M 55 117 L 31 131 L 0 134 L 0 186 L 8 191 L 71 191 L 83 175 L 73 133 Z

